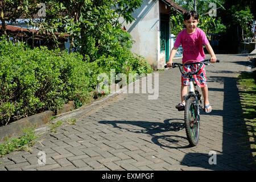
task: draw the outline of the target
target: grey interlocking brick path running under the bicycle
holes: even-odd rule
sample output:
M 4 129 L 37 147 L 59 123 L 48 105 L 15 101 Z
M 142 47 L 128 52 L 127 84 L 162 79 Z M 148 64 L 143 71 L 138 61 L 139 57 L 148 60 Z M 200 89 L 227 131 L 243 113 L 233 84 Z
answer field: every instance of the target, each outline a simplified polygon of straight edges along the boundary
M 247 55 L 218 55 L 207 67 L 210 114 L 201 113 L 200 141 L 189 147 L 180 102 L 178 69 L 159 72 L 159 97 L 119 94 L 97 110 L 48 132 L 30 152 L 0 159 L 0 170 L 251 170 L 256 169 L 246 140 L 236 76 Z M 39 165 L 40 151 L 46 165 Z M 209 164 L 215 151 L 217 164 Z

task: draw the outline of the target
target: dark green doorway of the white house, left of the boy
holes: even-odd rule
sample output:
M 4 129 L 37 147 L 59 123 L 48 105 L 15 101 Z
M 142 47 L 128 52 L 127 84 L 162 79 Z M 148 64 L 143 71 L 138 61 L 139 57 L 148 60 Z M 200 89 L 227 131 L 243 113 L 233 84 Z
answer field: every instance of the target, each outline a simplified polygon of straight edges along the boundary
M 160 53 L 164 53 L 165 61 L 169 59 L 170 48 L 170 16 L 168 14 L 160 15 Z

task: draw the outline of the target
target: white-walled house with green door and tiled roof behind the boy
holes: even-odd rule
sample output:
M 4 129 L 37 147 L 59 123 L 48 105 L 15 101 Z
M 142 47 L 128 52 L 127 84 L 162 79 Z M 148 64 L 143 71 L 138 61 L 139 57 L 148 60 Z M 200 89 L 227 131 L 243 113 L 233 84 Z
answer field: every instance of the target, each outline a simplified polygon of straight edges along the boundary
M 163 69 L 170 55 L 170 15 L 185 10 L 171 0 L 144 0 L 132 14 L 135 19 L 127 24 L 119 23 L 133 37 L 131 51 L 145 57 L 153 69 Z

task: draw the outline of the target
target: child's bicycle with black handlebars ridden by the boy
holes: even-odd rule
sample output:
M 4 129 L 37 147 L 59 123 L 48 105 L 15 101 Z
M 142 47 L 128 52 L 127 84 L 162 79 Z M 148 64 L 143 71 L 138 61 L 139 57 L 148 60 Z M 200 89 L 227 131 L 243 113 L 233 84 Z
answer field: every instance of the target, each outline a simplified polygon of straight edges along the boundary
M 220 63 L 220 60 L 217 60 L 216 63 Z M 185 65 L 192 65 L 192 64 L 200 64 L 199 67 L 195 72 L 184 72 L 181 67 Z M 184 110 L 184 119 L 185 119 L 185 130 L 187 134 L 187 139 L 189 144 L 193 147 L 199 142 L 199 126 L 200 126 L 200 110 L 204 109 L 201 106 L 201 94 L 197 89 L 197 84 L 195 79 L 193 79 L 193 75 L 196 75 L 200 68 L 205 65 L 212 65 L 210 64 L 210 59 L 205 59 L 203 61 L 197 61 L 195 63 L 172 63 L 172 68 L 176 68 L 177 66 L 180 69 L 181 74 L 187 76 L 189 79 L 189 93 L 184 96 L 185 99 L 185 108 L 178 109 L 179 111 Z M 213 65 L 212 65 L 213 66 Z M 164 66 L 167 68 L 167 65 Z M 199 104 L 200 102 L 200 104 Z

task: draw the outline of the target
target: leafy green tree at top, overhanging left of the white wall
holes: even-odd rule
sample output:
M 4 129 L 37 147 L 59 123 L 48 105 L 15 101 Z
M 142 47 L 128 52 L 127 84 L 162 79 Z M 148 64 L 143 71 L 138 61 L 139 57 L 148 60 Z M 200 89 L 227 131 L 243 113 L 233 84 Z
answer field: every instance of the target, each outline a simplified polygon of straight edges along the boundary
M 114 44 L 114 28 L 119 28 L 118 18 L 123 16 L 131 22 L 133 11 L 141 6 L 141 0 L 71 0 L 42 1 L 46 3 L 46 17 L 38 23 L 41 30 L 51 30 L 71 35 L 71 49 L 82 55 L 97 58 L 99 51 L 104 51 L 104 44 Z M 108 41 L 106 41 L 108 40 Z M 104 45 L 104 46 L 103 46 Z

